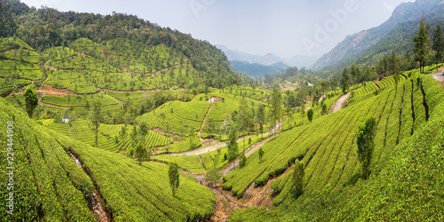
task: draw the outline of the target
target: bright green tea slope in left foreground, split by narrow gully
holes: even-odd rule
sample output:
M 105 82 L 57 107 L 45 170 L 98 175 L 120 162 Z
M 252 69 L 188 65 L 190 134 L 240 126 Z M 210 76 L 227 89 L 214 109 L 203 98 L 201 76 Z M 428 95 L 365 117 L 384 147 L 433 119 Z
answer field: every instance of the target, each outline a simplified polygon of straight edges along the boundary
M 75 139 L 36 124 L 0 99 L 0 127 L 14 120 L 16 194 L 15 215 L 8 220 L 50 221 L 93 220 L 87 201 L 93 186 L 83 170 L 69 158 L 69 150 L 78 156 L 85 170 L 97 183 L 105 207 L 115 221 L 187 220 L 208 218 L 212 214 L 214 194 L 199 186 L 194 178 L 180 174 L 177 197 L 168 184 L 168 167 L 158 163 L 139 164 L 123 155 L 96 149 Z M 0 131 L 6 147 L 5 131 Z M 6 149 L 0 150 L 0 168 L 5 175 Z M 0 185 L 6 199 L 6 184 Z M 40 213 L 39 213 L 40 212 Z

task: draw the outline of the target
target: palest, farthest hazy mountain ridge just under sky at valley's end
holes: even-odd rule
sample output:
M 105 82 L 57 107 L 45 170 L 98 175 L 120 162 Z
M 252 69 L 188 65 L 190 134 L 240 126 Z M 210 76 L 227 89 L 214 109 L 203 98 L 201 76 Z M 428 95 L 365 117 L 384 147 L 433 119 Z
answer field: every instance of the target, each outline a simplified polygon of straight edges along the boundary
M 273 53 L 267 53 L 264 56 L 253 55 L 246 52 L 239 52 L 237 50 L 230 50 L 225 45 L 216 45 L 218 49 L 222 50 L 226 54 L 226 57 L 230 61 L 246 61 L 250 64 L 258 63 L 264 66 L 272 66 L 276 63 L 284 63 L 289 67 L 311 67 L 316 61 L 315 57 L 305 57 L 301 55 L 293 56 L 289 59 L 281 58 Z

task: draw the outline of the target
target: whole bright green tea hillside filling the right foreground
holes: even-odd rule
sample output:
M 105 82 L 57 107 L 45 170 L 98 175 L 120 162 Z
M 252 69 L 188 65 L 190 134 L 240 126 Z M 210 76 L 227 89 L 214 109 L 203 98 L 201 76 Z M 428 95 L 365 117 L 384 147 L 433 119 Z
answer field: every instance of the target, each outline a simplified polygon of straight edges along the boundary
M 299 159 L 305 163 L 304 194 L 295 197 L 288 173 L 274 181 L 274 210 L 239 210 L 230 220 L 443 219 L 443 99 L 444 90 L 432 76 L 415 74 L 398 89 L 392 85 L 282 134 L 263 147 L 266 161 L 259 163 L 257 154 L 251 155 L 244 168 L 224 177 L 224 187 L 242 196 L 250 184 L 266 184 Z M 375 161 L 369 180 L 364 180 L 355 135 L 368 115 L 375 116 L 378 125 Z

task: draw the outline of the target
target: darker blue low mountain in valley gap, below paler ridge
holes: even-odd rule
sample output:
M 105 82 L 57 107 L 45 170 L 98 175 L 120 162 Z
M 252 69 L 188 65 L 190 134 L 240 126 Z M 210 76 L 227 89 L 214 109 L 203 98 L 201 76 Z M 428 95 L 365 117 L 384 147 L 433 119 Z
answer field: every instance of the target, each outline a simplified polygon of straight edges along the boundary
M 263 78 L 266 74 L 278 74 L 284 72 L 289 66 L 282 62 L 274 63 L 271 66 L 264 66 L 258 63 L 251 64 L 247 61 L 230 61 L 231 66 L 237 70 L 238 72 L 241 72 L 246 75 L 250 75 L 255 78 Z

